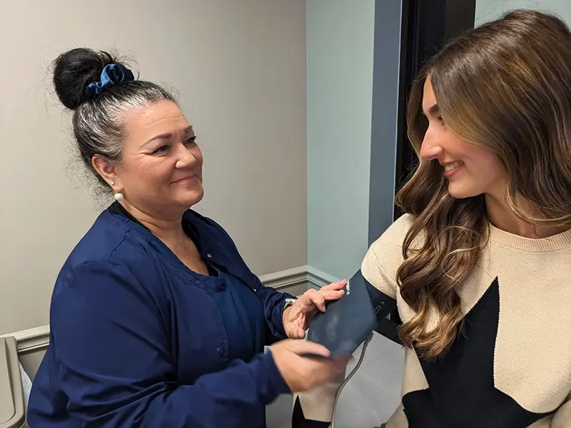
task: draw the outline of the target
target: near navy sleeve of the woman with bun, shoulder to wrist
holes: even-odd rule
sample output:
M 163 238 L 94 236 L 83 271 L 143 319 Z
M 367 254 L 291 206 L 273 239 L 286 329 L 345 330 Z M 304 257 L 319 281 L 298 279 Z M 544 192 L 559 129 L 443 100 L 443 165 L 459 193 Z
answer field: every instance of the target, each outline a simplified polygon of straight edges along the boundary
M 110 263 L 76 267 L 54 297 L 50 346 L 77 423 L 86 428 L 261 425 L 252 420 L 257 414 L 252 410 L 290 392 L 271 353 L 179 385 L 156 298 L 127 267 Z

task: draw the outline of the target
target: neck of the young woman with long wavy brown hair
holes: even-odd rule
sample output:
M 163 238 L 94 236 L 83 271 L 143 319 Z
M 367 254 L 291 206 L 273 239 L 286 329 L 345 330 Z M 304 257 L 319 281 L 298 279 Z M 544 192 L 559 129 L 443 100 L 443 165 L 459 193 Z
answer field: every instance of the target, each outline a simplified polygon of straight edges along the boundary
M 519 235 L 524 238 L 539 239 L 547 238 L 548 236 L 556 235 L 563 231 L 561 228 L 549 228 L 527 223 L 515 215 L 515 213 L 507 206 L 507 203 L 503 198 L 486 194 L 485 201 L 487 219 L 496 228 L 507 233 Z M 518 202 L 527 215 L 537 215 L 529 201 L 521 200 Z

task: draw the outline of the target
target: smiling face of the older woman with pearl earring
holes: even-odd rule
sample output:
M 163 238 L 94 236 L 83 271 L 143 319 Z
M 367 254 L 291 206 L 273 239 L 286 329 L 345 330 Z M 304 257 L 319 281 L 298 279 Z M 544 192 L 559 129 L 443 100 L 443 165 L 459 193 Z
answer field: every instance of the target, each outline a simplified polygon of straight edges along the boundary
M 202 153 L 176 103 L 154 103 L 124 117 L 121 162 L 98 168 L 115 192 L 149 215 L 182 215 L 203 197 Z

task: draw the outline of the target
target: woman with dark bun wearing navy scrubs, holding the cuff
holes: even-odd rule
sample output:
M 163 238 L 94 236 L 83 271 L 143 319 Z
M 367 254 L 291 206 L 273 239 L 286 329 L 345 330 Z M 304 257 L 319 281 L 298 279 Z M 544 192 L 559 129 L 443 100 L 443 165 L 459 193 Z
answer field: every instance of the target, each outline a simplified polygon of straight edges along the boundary
M 299 300 L 264 287 L 226 231 L 189 209 L 203 158 L 171 93 L 90 49 L 59 56 L 54 84 L 115 202 L 57 278 L 31 428 L 263 428 L 278 394 L 343 372 L 347 360 L 301 357 L 328 350 L 296 339 L 345 282 Z

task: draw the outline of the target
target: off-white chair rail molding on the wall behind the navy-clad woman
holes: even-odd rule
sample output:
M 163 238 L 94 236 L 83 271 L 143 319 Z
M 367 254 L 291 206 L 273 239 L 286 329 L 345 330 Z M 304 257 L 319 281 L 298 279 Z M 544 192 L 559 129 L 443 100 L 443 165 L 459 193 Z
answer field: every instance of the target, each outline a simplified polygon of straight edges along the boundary
M 308 287 L 320 288 L 331 282 L 338 281 L 335 277 L 311 266 L 298 266 L 280 272 L 261 275 L 263 285 L 274 287 L 282 292 L 300 295 Z M 36 352 L 44 352 L 49 345 L 49 325 L 22 330 L 1 336 L 16 337 L 19 355 L 27 355 Z

